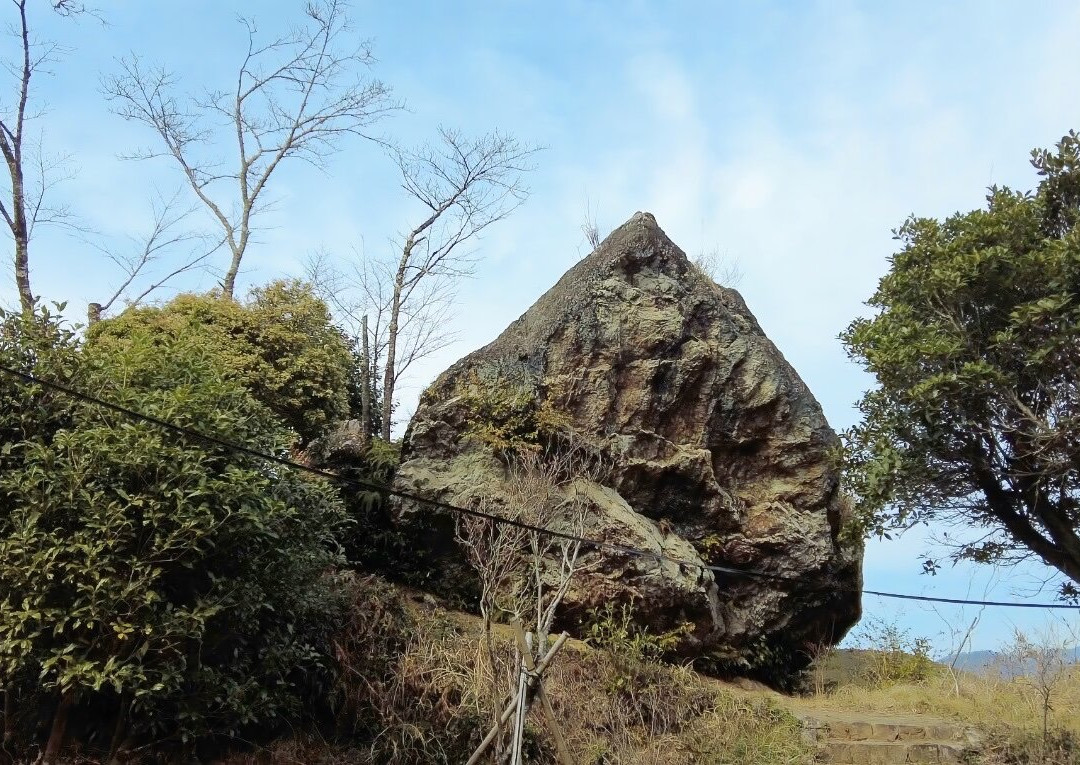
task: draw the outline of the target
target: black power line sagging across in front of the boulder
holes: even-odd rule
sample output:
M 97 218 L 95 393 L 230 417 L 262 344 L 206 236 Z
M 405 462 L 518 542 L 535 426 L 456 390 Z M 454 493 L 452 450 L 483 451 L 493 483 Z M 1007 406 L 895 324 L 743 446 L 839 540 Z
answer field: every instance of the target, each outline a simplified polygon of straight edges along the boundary
M 216 435 L 211 435 L 208 433 L 203 433 L 192 428 L 187 428 L 183 425 L 176 425 L 175 422 L 170 422 L 168 420 L 154 417 L 153 415 L 148 415 L 141 412 L 137 412 L 121 404 L 112 403 L 111 401 L 105 401 L 103 399 L 95 398 L 93 395 L 90 395 L 89 393 L 83 393 L 80 390 L 76 390 L 75 388 L 70 388 L 59 382 L 53 382 L 52 380 L 42 379 L 26 372 L 19 372 L 18 370 L 13 370 L 11 367 L 0 365 L 0 373 L 4 373 L 12 377 L 17 377 L 25 382 L 30 382 L 32 385 L 40 385 L 43 388 L 49 388 L 51 390 L 63 393 L 70 398 L 84 401 L 89 404 L 93 404 L 94 406 L 100 406 L 102 408 L 116 412 L 131 419 L 148 422 L 164 430 L 170 430 L 174 433 L 179 433 L 181 435 L 186 435 L 188 438 L 195 439 L 204 443 L 213 444 L 215 446 L 220 446 L 233 453 L 244 454 L 249 457 L 255 457 L 257 459 L 261 459 L 268 462 L 281 465 L 287 468 L 292 468 L 294 470 L 300 470 L 302 472 L 307 472 L 312 475 L 318 475 L 328 481 L 334 481 L 337 483 L 346 483 L 355 486 L 357 488 L 363 488 L 365 491 L 380 492 L 388 496 L 397 497 L 400 499 L 407 499 L 410 501 L 420 502 L 423 505 L 428 505 L 430 507 L 456 513 L 458 515 L 468 515 L 471 518 L 477 518 L 490 521 L 492 523 L 513 526 L 516 528 L 521 528 L 523 531 L 534 532 L 536 534 L 542 534 L 555 539 L 564 539 L 567 541 L 578 542 L 584 547 L 593 548 L 595 550 L 606 550 L 622 555 L 630 555 L 645 560 L 651 560 L 656 561 L 658 564 L 671 563 L 679 567 L 704 569 L 713 572 L 714 574 L 726 574 L 729 576 L 740 576 L 752 579 L 766 579 L 780 582 L 801 581 L 801 579 L 797 577 L 785 577 L 779 574 L 770 574 L 769 572 L 747 571 L 741 568 L 731 568 L 729 566 L 696 563 L 693 561 L 684 561 L 677 558 L 671 558 L 670 555 L 665 555 L 659 552 L 649 552 L 648 550 L 640 550 L 638 548 L 627 547 L 624 545 L 617 545 L 615 542 L 603 541 L 600 539 L 590 539 L 586 537 L 579 537 L 575 534 L 567 534 L 565 532 L 558 532 L 551 528 L 543 528 L 542 526 L 536 526 L 512 518 L 495 515 L 492 513 L 484 512 L 482 510 L 474 510 L 472 508 L 459 507 L 457 505 L 450 505 L 449 502 L 444 502 L 438 499 L 421 497 L 415 494 L 410 494 L 408 492 L 402 492 L 401 489 L 396 489 L 392 486 L 388 486 L 377 482 L 367 481 L 364 479 L 356 479 L 348 475 L 339 475 L 328 470 L 322 470 L 320 468 L 314 468 L 311 467 L 310 465 L 303 465 L 302 462 L 297 462 L 295 460 L 287 459 L 285 457 L 280 457 L 278 455 L 260 452 L 258 449 L 245 446 L 240 443 L 235 443 L 233 441 L 228 441 L 226 439 L 221 439 Z M 927 603 L 950 603 L 956 605 L 977 605 L 977 606 L 994 606 L 994 607 L 1008 607 L 1008 608 L 1054 608 L 1054 609 L 1080 610 L 1080 605 L 1068 605 L 1065 603 L 1013 603 L 1004 601 L 975 601 L 975 600 L 967 600 L 958 598 L 937 598 L 933 595 L 914 595 L 900 592 L 882 592 L 878 590 L 865 590 L 865 589 L 861 590 L 856 588 L 846 588 L 846 587 L 837 587 L 834 589 L 836 591 L 841 591 L 841 592 L 855 592 L 866 595 L 877 595 L 879 598 L 891 598 L 895 600 L 905 600 L 905 601 L 921 601 Z

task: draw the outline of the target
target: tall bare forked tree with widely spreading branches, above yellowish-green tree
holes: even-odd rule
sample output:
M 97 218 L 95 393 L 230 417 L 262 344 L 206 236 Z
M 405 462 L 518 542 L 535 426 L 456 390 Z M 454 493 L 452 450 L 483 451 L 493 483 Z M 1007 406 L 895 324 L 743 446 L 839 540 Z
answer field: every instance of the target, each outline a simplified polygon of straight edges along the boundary
M 345 0 L 309 0 L 305 26 L 269 42 L 242 18 L 247 50 L 229 90 L 177 96 L 175 76 L 137 56 L 121 61 L 121 73 L 105 83 L 118 113 L 152 128 L 162 145 L 136 157 L 171 158 L 220 228 L 230 252 L 221 281 L 228 297 L 281 163 L 322 166 L 341 138 L 372 137 L 365 130 L 399 108 L 387 85 L 363 76 L 374 58 L 366 42 L 351 43 L 347 11 Z M 213 158 L 226 145 L 231 159 Z

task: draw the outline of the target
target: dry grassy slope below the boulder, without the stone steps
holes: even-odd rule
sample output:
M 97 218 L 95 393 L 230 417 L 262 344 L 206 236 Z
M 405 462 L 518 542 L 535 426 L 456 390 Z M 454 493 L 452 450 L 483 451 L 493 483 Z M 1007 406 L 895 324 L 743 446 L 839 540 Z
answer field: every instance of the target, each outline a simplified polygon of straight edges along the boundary
M 353 680 L 337 692 L 345 701 L 337 703 L 338 736 L 333 742 L 288 738 L 257 756 L 233 755 L 229 765 L 394 765 L 468 759 L 494 719 L 492 699 L 502 698 L 512 682 L 510 630 L 496 628 L 491 661 L 475 617 L 446 610 L 430 598 L 402 599 L 392 588 L 379 587 L 386 591 L 357 605 L 353 642 L 342 646 L 346 674 Z M 388 608 L 394 598 L 397 605 Z M 388 642 L 387 630 L 399 633 Z M 1042 702 L 1037 688 L 1023 679 L 954 676 L 932 663 L 920 676 L 882 677 L 880 671 L 868 671 L 880 669 L 881 656 L 863 652 L 839 662 L 835 686 L 827 693 L 792 699 L 643 660 L 626 645 L 608 648 L 570 641 L 545 681 L 575 762 L 581 765 L 812 763 L 813 750 L 795 715 L 813 709 L 932 714 L 963 722 L 994 734 L 986 763 L 1080 762 L 1072 754 L 1052 757 L 1039 749 Z M 1049 722 L 1054 730 L 1080 735 L 1080 673 L 1055 684 Z M 551 736 L 536 713 L 527 746 L 530 763 L 557 762 Z

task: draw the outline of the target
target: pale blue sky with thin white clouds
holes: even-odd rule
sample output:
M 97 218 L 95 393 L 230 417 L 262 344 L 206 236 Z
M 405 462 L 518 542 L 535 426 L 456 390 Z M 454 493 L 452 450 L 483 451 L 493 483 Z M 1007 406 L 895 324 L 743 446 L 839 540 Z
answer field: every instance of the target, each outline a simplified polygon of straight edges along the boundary
M 254 15 L 270 33 L 298 18 L 300 0 L 100 0 L 107 24 L 36 24 L 68 50 L 37 83 L 48 149 L 72 157 L 58 189 L 118 246 L 144 229 L 148 200 L 178 178 L 164 162 L 122 161 L 152 144 L 103 103 L 98 83 L 117 56 L 138 52 L 191 91 L 227 86 Z M 10 13 L 10 11 L 4 11 Z M 459 341 L 416 370 L 419 390 L 492 339 L 584 255 L 586 210 L 602 232 L 652 212 L 688 253 L 719 249 L 766 332 L 840 430 L 869 380 L 836 339 L 864 312 L 910 213 L 943 216 L 982 203 L 991 183 L 1030 188 L 1031 148 L 1080 128 L 1080 6 L 1071 2 L 364 2 L 357 33 L 373 41 L 374 73 L 409 107 L 382 123 L 405 142 L 438 125 L 498 128 L 546 150 L 532 196 L 476 243 L 476 278 L 455 312 Z M 3 43 L 13 52 L 13 41 Z M 10 91 L 8 91 L 10 92 Z M 306 165 L 274 178 L 241 283 L 299 274 L 325 249 L 349 257 L 388 249 L 415 217 L 392 165 L 351 143 L 326 172 Z M 80 238 L 42 230 L 35 286 L 81 317 L 118 273 Z M 205 288 L 210 277 L 183 282 Z M 11 303 L 11 280 L 0 300 Z M 1041 598 L 1047 572 L 946 568 L 919 575 L 927 534 L 872 542 L 866 585 L 946 596 Z M 975 612 L 865 601 L 867 613 L 937 636 Z M 986 612 L 975 647 L 1044 615 Z

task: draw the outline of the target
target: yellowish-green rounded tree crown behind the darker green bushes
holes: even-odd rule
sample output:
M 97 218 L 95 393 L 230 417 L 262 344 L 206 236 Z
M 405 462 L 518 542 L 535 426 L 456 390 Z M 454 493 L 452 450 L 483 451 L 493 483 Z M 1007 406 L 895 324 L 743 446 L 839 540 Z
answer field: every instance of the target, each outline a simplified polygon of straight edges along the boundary
M 179 295 L 160 307 L 136 308 L 96 323 L 99 346 L 150 328 L 160 343 L 202 335 L 221 371 L 303 441 L 349 414 L 354 360 L 329 310 L 307 284 L 278 281 L 251 292 L 245 303 L 218 295 Z

